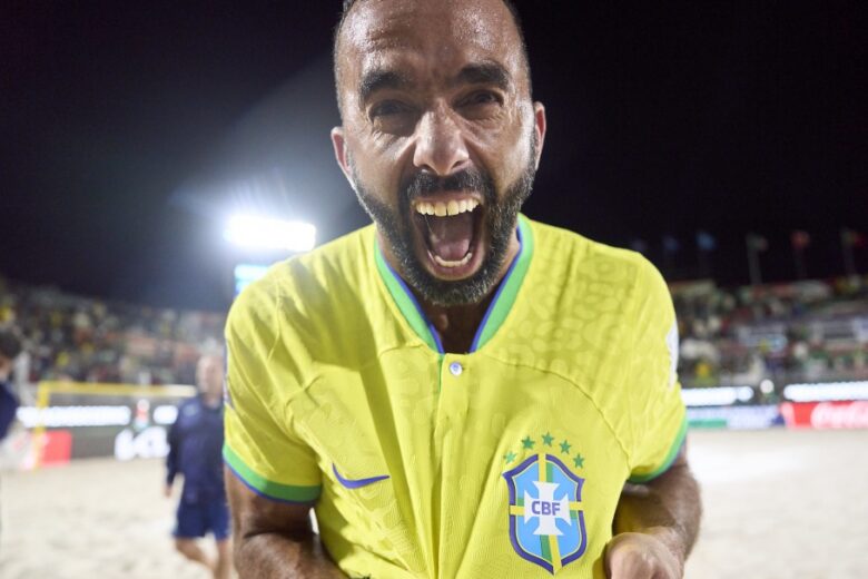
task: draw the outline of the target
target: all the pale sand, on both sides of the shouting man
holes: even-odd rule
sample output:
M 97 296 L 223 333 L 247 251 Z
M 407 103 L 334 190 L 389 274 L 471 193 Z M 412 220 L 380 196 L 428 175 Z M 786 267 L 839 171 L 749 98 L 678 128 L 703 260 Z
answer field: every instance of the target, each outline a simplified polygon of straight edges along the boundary
M 706 517 L 688 578 L 868 577 L 868 431 L 696 431 Z M 0 577 L 205 579 L 172 550 L 159 461 L 0 478 Z

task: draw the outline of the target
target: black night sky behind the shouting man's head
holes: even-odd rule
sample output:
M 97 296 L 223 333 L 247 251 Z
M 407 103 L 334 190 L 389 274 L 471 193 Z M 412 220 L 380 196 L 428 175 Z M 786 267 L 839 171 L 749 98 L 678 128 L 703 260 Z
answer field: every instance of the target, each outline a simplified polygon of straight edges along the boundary
M 136 4 L 136 6 L 134 6 Z M 581 4 L 581 6 L 576 6 Z M 525 213 L 697 277 L 844 271 L 868 234 L 864 2 L 519 2 L 549 135 Z M 0 9 L 0 274 L 83 295 L 224 308 L 234 209 L 366 223 L 335 164 L 338 0 L 20 2 Z M 680 249 L 664 258 L 661 239 Z M 857 266 L 868 272 L 868 248 Z

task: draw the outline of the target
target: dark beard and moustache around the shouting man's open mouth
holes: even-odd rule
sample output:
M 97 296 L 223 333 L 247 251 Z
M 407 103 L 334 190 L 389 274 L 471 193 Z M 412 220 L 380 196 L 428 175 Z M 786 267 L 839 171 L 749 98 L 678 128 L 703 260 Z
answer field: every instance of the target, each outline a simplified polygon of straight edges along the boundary
M 376 195 L 365 187 L 358 179 L 352 157 L 348 157 L 358 202 L 388 244 L 397 261 L 398 274 L 422 300 L 440 306 L 472 305 L 482 302 L 497 285 L 510 239 L 515 234 L 519 212 L 533 188 L 536 175 L 535 137 L 533 134 L 527 166 L 519 178 L 506 187 L 502 196 L 497 196 L 491 175 L 481 169 L 465 169 L 448 177 L 416 173 L 401 184 L 397 208 L 382 200 L 386 196 Z M 416 242 L 411 217 L 412 203 L 422 195 L 444 190 L 474 190 L 482 194 L 484 199 L 484 215 L 482 224 L 477 226 L 482 226 L 489 235 L 485 257 L 480 268 L 465 279 L 446 281 L 435 277 L 420 263 L 414 252 Z

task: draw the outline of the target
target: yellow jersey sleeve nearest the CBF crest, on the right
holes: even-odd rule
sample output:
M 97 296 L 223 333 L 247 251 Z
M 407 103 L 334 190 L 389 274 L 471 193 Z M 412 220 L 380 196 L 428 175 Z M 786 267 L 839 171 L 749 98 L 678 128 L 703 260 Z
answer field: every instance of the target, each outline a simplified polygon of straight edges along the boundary
M 648 482 L 674 461 L 687 435 L 678 382 L 678 324 L 663 277 L 642 259 L 630 361 L 632 441 L 630 482 Z

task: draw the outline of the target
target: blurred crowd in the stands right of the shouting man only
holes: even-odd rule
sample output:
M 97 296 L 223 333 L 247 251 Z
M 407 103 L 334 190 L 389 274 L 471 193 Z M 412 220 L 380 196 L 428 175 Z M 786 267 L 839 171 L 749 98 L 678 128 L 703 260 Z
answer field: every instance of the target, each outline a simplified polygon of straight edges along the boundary
M 684 386 L 868 379 L 868 277 L 671 291 Z

